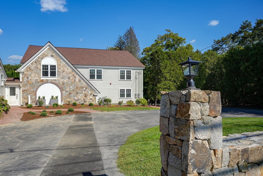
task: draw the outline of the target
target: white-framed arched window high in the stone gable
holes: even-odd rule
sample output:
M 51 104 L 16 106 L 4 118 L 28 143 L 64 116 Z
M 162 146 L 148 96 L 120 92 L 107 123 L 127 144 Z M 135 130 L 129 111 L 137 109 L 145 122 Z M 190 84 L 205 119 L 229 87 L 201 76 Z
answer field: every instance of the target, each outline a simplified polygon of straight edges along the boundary
M 41 62 L 41 78 L 57 79 L 57 61 L 52 57 L 46 57 Z

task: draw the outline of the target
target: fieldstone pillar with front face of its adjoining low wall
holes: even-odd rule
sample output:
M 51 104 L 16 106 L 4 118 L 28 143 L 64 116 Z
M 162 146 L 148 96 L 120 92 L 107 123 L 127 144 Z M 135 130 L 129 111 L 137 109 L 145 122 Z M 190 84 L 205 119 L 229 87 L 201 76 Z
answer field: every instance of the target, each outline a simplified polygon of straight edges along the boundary
M 161 176 L 260 176 L 262 145 L 222 148 L 220 92 L 161 92 Z

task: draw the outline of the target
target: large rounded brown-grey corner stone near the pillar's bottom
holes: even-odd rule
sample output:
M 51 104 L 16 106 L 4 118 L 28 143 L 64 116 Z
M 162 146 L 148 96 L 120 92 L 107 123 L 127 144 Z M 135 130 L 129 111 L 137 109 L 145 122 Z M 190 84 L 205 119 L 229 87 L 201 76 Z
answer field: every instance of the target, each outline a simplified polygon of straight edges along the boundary
M 211 151 L 207 141 L 184 141 L 182 146 L 183 171 L 189 174 L 207 173 L 212 166 Z

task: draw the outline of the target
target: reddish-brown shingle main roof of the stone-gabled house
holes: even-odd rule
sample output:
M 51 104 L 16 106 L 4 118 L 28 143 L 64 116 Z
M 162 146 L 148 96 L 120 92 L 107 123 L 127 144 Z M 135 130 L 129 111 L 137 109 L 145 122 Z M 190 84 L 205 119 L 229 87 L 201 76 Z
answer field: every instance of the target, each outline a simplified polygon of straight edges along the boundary
M 29 45 L 20 63 L 25 63 L 42 47 Z M 56 47 L 56 49 L 73 65 L 145 67 L 129 51 L 64 47 Z

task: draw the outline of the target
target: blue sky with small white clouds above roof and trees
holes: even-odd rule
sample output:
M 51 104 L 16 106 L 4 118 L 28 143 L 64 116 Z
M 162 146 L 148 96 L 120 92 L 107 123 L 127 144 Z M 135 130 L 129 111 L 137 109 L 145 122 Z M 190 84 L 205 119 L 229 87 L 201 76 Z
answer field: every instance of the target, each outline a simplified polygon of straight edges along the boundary
M 0 58 L 3 64 L 19 63 L 28 45 L 43 46 L 48 41 L 57 47 L 106 49 L 130 26 L 141 51 L 165 29 L 186 38 L 194 50 L 202 50 L 238 30 L 242 21 L 254 24 L 257 18 L 263 18 L 263 0 L 1 0 Z

